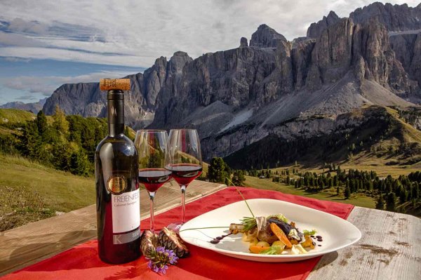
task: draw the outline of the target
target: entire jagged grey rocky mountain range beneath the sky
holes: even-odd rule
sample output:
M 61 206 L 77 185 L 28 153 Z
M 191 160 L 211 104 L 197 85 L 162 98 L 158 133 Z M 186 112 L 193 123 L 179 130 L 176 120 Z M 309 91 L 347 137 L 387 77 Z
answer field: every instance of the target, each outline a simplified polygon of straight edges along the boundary
M 126 122 L 197 128 L 206 160 L 241 153 L 269 135 L 293 142 L 353 131 L 366 121 L 349 119 L 349 112 L 421 100 L 419 10 L 374 3 L 349 18 L 331 12 L 293 41 L 260 25 L 239 48 L 194 60 L 183 52 L 158 58 L 129 76 Z M 51 114 L 55 105 L 67 114 L 105 116 L 98 84 L 63 85 L 44 109 Z M 363 119 L 370 114 L 379 116 L 368 110 Z

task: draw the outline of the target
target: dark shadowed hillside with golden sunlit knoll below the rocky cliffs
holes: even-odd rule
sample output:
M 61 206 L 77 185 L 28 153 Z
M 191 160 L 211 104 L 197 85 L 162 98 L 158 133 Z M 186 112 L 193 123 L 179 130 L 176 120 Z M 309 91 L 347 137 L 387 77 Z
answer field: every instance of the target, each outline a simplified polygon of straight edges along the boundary
M 330 135 L 289 141 L 271 134 L 230 154 L 225 161 L 239 169 L 275 168 L 295 161 L 307 168 L 335 163 L 396 166 L 398 170 L 420 164 L 421 131 L 400 119 L 395 109 L 370 106 L 356 109 L 346 117 L 360 119 L 361 125 Z

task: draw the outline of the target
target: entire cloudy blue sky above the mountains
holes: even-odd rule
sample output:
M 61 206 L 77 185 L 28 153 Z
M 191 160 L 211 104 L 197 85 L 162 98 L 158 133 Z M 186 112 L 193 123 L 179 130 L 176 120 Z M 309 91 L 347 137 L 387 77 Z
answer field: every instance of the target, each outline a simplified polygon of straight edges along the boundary
M 0 105 L 46 98 L 65 83 L 142 72 L 175 51 L 197 58 L 235 48 L 262 23 L 292 40 L 329 11 L 345 17 L 371 2 L 1 0 Z

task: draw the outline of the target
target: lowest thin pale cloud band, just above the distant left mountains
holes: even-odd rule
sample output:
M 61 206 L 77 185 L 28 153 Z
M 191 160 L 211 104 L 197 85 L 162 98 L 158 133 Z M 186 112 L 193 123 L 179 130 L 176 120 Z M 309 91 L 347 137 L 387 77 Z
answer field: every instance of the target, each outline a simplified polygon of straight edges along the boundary
M 107 77 L 110 79 L 121 78 L 133 74 L 129 72 L 95 72 L 79 76 L 17 76 L 15 78 L 0 79 L 0 83 L 6 88 L 12 88 L 29 93 L 41 93 L 50 96 L 58 86 L 62 84 L 98 82 Z M 24 99 L 29 95 L 25 95 Z

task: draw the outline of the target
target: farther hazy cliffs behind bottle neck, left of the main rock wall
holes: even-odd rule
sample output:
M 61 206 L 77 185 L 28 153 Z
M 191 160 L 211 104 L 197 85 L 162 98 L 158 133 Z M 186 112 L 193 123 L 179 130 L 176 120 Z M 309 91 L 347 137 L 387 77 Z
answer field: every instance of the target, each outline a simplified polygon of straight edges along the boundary
M 131 79 L 131 91 L 124 100 L 125 121 L 133 128 L 142 128 L 154 120 L 158 95 L 172 88 L 185 63 L 190 62 L 187 53 L 177 52 L 167 61 L 156 59 L 154 65 L 145 72 L 126 76 Z M 100 116 L 107 114 L 107 98 L 99 89 L 98 83 L 64 84 L 46 100 L 44 112 L 53 114 L 58 105 L 66 114 Z

